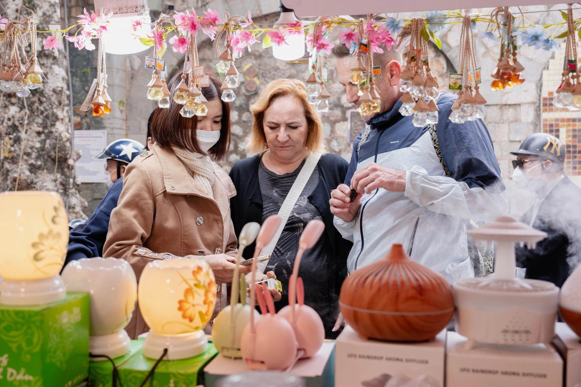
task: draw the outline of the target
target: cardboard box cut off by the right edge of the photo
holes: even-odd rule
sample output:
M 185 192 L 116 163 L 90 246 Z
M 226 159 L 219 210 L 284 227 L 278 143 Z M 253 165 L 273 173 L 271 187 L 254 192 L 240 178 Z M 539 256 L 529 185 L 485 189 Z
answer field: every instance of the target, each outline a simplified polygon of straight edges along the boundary
M 555 326 L 555 339 L 553 344 L 565 359 L 564 380 L 565 387 L 578 387 L 581 385 L 581 342 L 565 323 L 557 323 Z

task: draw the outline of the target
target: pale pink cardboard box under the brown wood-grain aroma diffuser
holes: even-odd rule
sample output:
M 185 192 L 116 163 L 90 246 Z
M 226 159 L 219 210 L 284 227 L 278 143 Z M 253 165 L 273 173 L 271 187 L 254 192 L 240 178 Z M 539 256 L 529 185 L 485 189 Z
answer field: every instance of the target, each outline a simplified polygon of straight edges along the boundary
M 443 387 L 445 348 L 446 330 L 434 341 L 398 343 L 361 338 L 347 325 L 337 338 L 335 386 L 371 386 L 382 375 L 426 375 Z

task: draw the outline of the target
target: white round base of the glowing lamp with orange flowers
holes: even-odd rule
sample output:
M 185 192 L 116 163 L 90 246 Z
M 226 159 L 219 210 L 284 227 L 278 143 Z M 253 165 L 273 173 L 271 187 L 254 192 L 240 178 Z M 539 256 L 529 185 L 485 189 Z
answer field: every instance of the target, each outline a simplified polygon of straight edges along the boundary
M 198 356 L 208 346 L 208 339 L 202 330 L 180 335 L 162 335 L 149 331 L 144 342 L 144 355 L 150 359 L 159 359 L 167 348 L 163 360 L 180 360 Z

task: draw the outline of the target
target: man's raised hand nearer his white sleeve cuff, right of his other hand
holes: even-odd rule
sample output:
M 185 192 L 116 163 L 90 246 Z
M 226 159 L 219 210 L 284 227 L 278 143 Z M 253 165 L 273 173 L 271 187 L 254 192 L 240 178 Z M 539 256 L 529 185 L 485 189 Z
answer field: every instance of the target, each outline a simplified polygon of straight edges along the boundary
M 406 171 L 383 167 L 372 162 L 353 174 L 351 186 L 361 194 L 370 194 L 378 188 L 391 192 L 403 192 L 406 190 Z

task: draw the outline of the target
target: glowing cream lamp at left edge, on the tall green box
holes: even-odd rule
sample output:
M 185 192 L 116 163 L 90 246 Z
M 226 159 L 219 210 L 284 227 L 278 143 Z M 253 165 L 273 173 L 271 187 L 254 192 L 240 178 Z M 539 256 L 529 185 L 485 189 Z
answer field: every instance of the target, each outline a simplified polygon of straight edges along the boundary
M 36 305 L 66 295 L 59 276 L 69 226 L 56 192 L 0 193 L 0 304 Z

